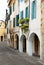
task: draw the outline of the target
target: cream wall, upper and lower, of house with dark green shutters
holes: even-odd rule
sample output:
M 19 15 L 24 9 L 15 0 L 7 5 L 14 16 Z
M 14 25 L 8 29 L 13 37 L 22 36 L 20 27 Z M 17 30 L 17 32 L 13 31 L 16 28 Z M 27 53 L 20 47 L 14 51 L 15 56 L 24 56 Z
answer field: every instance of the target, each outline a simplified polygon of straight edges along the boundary
M 13 11 L 13 5 L 12 5 L 12 14 L 10 16 L 11 28 L 13 28 L 13 18 L 15 18 L 16 20 L 16 15 L 18 14 L 19 14 L 19 3 L 18 3 L 18 0 L 16 0 L 14 3 L 14 11 Z M 16 23 L 15 23 L 14 33 L 19 36 L 19 27 L 16 26 Z M 14 48 L 16 48 L 15 34 L 14 34 Z

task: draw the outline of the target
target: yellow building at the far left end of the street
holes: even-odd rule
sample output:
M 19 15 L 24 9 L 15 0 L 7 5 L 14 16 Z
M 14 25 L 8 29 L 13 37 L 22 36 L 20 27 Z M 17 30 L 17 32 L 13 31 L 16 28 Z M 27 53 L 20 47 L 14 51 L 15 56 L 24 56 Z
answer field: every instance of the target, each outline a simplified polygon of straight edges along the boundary
M 5 28 L 5 22 L 0 20 L 0 42 L 5 40 L 5 36 L 7 34 L 7 29 Z

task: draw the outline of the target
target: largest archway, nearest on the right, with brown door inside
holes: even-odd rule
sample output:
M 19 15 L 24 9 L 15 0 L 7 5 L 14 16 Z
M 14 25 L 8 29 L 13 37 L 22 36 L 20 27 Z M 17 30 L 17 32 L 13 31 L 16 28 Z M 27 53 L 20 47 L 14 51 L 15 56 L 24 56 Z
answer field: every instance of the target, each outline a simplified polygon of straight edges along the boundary
M 32 33 L 29 38 L 29 53 L 40 57 L 40 41 L 35 33 Z

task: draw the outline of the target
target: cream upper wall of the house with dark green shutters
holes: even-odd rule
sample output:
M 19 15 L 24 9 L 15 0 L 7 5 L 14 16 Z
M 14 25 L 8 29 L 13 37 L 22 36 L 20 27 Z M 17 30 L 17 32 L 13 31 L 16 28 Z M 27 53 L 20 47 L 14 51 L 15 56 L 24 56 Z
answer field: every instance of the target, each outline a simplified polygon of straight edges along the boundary
M 13 18 L 15 18 L 16 15 L 18 15 L 18 14 L 19 14 L 19 6 L 18 6 L 18 0 L 16 0 L 14 3 L 14 11 L 13 11 L 13 5 L 12 5 L 12 14 L 10 16 L 10 19 L 12 21 L 12 28 L 13 28 Z M 15 25 L 16 25 L 16 23 L 15 23 Z

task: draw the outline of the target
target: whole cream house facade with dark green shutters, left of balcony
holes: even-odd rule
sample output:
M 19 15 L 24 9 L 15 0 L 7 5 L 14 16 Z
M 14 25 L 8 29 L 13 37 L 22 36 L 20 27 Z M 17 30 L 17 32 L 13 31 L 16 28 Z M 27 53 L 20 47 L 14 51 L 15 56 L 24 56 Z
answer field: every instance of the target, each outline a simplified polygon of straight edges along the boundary
M 9 7 L 9 12 L 10 12 L 11 30 L 12 29 L 14 30 L 14 46 L 13 47 L 18 49 L 18 43 L 19 43 L 18 42 L 18 39 L 19 39 L 18 38 L 19 36 L 19 24 L 18 24 L 19 2 L 18 0 L 17 1 L 10 0 L 10 2 L 8 3 L 8 7 Z

